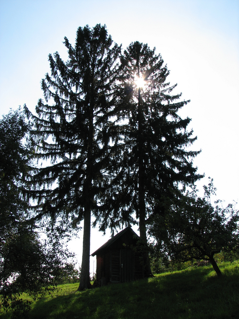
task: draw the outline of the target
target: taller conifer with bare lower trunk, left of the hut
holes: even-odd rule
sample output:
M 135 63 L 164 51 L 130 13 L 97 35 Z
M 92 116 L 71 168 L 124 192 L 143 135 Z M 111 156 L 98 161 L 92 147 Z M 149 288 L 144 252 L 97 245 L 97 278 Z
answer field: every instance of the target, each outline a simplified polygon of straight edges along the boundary
M 49 55 L 51 75 L 42 80 L 46 103 L 39 100 L 32 116 L 39 138 L 36 157 L 50 160 L 32 182 L 39 216 L 84 220 L 79 290 L 91 287 L 91 215 L 99 216 L 107 184 L 107 153 L 115 105 L 118 45 L 105 26 L 79 27 L 73 47 L 65 37 L 69 59 Z M 48 103 L 49 102 L 49 103 Z M 28 116 L 30 112 L 26 109 Z

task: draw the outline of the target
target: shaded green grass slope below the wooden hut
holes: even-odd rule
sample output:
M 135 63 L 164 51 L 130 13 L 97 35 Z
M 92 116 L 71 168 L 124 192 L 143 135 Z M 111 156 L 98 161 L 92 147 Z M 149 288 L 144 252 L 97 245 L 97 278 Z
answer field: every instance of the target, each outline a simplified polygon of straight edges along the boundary
M 220 269 L 220 279 L 206 266 L 83 292 L 78 284 L 62 285 L 54 298 L 35 302 L 29 318 L 238 319 L 239 261 Z

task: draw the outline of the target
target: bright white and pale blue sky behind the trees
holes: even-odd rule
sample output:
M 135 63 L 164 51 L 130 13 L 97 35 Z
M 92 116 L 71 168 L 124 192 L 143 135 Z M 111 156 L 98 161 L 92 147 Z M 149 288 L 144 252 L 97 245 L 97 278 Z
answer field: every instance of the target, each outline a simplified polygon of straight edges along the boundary
M 238 200 L 239 0 L 0 0 L 0 115 L 24 103 L 34 111 L 48 54 L 66 60 L 64 36 L 74 44 L 79 26 L 97 23 L 123 48 L 140 41 L 161 53 L 175 93 L 191 100 L 180 114 L 202 150 L 194 165 L 217 198 Z M 91 253 L 109 236 L 93 230 Z M 79 263 L 82 237 L 70 245 Z

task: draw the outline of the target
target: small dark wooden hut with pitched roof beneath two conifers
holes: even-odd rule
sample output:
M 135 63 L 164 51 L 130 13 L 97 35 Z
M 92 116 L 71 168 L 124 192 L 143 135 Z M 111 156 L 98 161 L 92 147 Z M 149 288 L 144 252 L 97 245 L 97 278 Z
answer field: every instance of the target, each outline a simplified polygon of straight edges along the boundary
M 107 284 L 144 278 L 142 258 L 133 249 L 138 240 L 127 227 L 91 254 L 96 255 L 96 281 Z

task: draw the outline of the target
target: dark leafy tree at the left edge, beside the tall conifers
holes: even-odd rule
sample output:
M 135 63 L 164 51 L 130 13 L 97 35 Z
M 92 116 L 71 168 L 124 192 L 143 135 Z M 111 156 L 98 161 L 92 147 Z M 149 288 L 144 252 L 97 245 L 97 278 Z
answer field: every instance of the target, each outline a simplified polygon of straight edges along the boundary
M 51 291 L 52 271 L 65 251 L 51 233 L 39 241 L 29 219 L 27 180 L 31 173 L 32 141 L 24 113 L 10 111 L 0 120 L 0 304 L 12 317 L 25 317 L 30 303 L 21 292 L 36 298 Z M 57 256 L 56 256 L 57 255 Z

